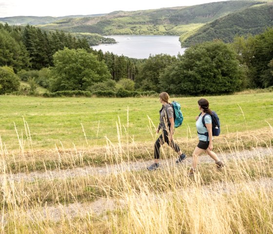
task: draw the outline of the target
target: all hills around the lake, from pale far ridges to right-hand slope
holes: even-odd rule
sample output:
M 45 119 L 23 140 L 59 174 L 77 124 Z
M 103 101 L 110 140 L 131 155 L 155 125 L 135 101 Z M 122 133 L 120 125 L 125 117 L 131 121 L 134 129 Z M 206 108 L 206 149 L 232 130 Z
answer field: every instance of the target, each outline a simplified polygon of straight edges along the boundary
M 12 25 L 107 35 L 178 35 L 182 47 L 235 35 L 258 34 L 273 25 L 273 1 L 230 0 L 108 14 L 63 17 L 17 16 L 0 18 Z M 129 39 L 128 39 L 129 40 Z

